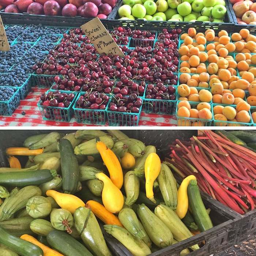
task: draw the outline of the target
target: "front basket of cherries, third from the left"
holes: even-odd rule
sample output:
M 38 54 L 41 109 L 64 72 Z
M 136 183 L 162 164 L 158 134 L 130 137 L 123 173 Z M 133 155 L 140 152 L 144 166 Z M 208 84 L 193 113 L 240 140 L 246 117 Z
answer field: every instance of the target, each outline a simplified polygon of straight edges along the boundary
M 123 96 L 118 93 L 110 98 L 107 108 L 109 126 L 137 126 L 143 105 L 143 97 L 136 94 Z

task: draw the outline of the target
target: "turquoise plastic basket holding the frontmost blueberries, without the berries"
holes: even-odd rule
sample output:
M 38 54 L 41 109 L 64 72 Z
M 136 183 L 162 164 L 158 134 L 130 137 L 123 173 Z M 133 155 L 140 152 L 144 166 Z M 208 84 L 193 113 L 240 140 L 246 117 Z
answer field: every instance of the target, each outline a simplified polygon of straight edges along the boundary
M 14 95 L 8 101 L 0 101 L 0 115 L 1 116 L 11 116 L 16 108 L 18 108 L 20 104 L 20 87 L 12 87 L 12 86 L 0 86 L 0 89 L 14 89 L 16 90 Z

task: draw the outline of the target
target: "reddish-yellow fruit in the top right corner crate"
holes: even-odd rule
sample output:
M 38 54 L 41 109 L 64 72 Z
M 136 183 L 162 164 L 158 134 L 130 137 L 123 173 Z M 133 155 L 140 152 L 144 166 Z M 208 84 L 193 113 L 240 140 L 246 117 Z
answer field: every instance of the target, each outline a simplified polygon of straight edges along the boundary
M 256 24 L 256 5 L 253 1 L 230 0 L 230 3 L 236 17 L 235 22 L 244 25 Z

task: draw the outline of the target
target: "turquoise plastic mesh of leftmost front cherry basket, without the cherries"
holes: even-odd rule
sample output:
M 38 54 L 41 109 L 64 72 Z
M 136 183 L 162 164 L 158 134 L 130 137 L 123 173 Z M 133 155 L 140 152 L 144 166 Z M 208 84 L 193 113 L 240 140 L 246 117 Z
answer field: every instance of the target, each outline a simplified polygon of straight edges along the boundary
M 46 94 L 50 90 L 46 91 Z M 52 120 L 58 122 L 69 122 L 71 118 L 74 116 L 74 111 L 72 106 L 76 100 L 77 94 L 75 94 L 75 98 L 71 101 L 68 108 L 60 108 L 60 107 L 52 107 L 52 106 L 43 106 L 41 105 L 41 99 L 37 103 L 37 106 L 41 112 L 41 115 L 44 120 Z

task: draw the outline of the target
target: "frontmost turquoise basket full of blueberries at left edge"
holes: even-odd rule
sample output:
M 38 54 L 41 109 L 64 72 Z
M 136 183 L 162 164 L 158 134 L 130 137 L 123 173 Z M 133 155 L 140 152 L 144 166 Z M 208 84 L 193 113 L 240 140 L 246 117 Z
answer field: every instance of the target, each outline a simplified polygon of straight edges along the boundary
M 20 104 L 19 87 L 0 86 L 0 115 L 11 116 Z

